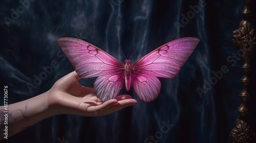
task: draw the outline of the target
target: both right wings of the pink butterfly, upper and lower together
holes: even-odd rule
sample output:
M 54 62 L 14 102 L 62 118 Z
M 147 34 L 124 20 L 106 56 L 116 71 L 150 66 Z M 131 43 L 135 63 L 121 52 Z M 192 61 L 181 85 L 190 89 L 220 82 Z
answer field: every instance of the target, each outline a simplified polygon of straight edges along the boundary
M 145 102 L 156 99 L 161 88 L 157 77 L 174 78 L 199 41 L 195 37 L 179 38 L 133 63 L 132 83 L 138 97 Z

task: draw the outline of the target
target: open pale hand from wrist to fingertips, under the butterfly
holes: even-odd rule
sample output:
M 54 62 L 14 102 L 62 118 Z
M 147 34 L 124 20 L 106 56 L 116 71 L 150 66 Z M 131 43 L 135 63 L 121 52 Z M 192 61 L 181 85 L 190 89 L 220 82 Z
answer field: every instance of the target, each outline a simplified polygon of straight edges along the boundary
M 48 92 L 48 108 L 53 114 L 102 116 L 136 105 L 129 95 L 117 96 L 106 102 L 98 99 L 94 89 L 79 84 L 75 71 L 59 79 Z

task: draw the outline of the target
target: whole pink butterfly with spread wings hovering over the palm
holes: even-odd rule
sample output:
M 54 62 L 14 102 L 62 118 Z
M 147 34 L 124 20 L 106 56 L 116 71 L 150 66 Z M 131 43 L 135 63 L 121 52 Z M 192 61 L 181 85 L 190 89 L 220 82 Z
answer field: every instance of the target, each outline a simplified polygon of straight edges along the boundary
M 176 39 L 163 44 L 133 64 L 129 59 L 123 64 L 86 41 L 67 37 L 57 39 L 81 78 L 98 77 L 94 90 L 100 100 L 114 99 L 125 81 L 127 91 L 132 82 L 138 97 L 145 102 L 158 97 L 161 83 L 157 77 L 176 77 L 199 41 L 195 37 Z

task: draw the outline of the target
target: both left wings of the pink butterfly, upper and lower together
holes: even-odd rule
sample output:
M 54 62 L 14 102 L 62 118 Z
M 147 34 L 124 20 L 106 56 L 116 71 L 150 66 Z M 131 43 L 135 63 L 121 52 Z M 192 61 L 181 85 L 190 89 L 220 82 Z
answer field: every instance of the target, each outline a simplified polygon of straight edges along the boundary
M 99 99 L 106 101 L 117 96 L 123 84 L 123 63 L 80 39 L 65 37 L 57 42 L 81 78 L 98 77 L 94 89 Z

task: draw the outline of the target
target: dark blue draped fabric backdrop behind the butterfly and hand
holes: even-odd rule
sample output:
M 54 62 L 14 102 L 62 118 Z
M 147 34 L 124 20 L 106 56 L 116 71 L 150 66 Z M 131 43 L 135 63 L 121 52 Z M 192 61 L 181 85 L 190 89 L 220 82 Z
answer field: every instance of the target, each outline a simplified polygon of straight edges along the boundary
M 241 0 L 1 1 L 0 87 L 8 85 L 9 104 L 49 90 L 74 70 L 57 38 L 86 40 L 122 62 L 119 49 L 126 57 L 136 50 L 132 63 L 168 41 L 200 39 L 178 76 L 160 79 L 156 100 L 145 103 L 122 88 L 137 105 L 100 117 L 55 115 L 2 142 L 229 142 L 243 75 L 232 31 L 243 8 Z M 36 85 L 53 61 L 57 67 Z

